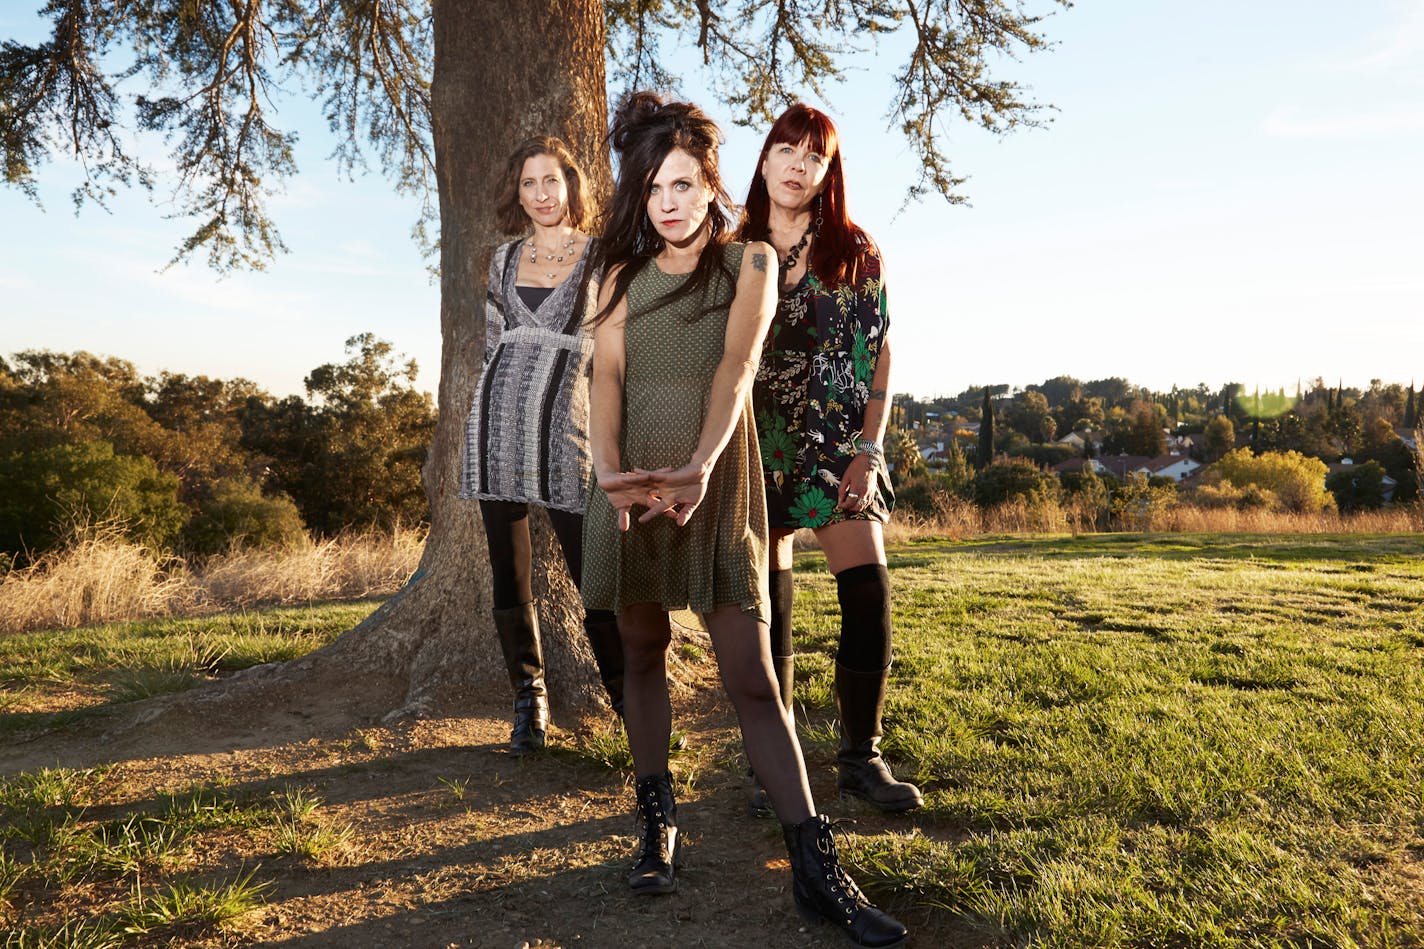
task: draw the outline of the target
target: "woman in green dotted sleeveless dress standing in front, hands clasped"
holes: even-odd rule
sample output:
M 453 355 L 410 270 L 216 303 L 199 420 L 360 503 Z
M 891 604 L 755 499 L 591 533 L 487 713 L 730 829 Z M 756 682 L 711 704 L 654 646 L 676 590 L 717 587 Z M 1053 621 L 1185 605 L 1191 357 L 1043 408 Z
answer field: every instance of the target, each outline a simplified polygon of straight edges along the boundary
M 748 758 L 782 821 L 795 899 L 863 946 L 906 929 L 842 871 L 815 814 L 776 693 L 766 627 L 766 502 L 752 423 L 758 353 L 776 306 L 770 248 L 728 241 L 719 131 L 702 110 L 631 95 L 611 131 L 618 182 L 604 215 L 584 519 L 585 604 L 612 610 L 624 643 L 624 720 L 644 832 L 628 878 L 676 885 L 681 848 L 668 737 L 668 614 L 712 637 Z

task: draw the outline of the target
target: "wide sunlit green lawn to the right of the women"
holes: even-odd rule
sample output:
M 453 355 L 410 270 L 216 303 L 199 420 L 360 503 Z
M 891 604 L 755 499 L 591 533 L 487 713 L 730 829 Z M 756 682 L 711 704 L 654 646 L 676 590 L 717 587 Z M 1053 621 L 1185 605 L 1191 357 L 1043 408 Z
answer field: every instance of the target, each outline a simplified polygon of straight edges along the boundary
M 991 943 L 1418 946 L 1424 537 L 1114 534 L 893 550 L 886 748 L 914 835 L 847 854 Z M 834 580 L 797 564 L 833 715 Z M 911 688 L 913 687 L 913 688 Z

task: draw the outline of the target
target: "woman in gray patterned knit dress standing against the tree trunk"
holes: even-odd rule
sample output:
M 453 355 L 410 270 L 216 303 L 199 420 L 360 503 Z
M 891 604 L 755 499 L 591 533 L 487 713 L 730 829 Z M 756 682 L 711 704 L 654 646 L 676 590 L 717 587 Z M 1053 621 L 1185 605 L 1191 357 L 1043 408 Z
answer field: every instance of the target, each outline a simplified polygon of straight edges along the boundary
M 484 365 L 466 422 L 460 497 L 478 499 L 490 544 L 494 628 L 514 687 L 510 752 L 544 747 L 548 690 L 538 604 L 530 584 L 530 506 L 548 512 L 568 573 L 582 574 L 588 484 L 588 365 L 584 323 L 598 301 L 584 232 L 584 177 L 558 138 L 510 154 L 496 221 L 524 237 L 494 248 L 484 306 Z M 590 610 L 584 630 L 622 714 L 622 645 L 612 613 Z

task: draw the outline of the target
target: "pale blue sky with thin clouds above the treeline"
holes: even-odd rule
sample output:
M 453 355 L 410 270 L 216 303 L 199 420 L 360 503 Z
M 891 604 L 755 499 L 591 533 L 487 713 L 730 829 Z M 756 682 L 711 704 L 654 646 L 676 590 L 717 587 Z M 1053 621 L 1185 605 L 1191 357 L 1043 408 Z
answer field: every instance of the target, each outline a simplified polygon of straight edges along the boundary
M 0 37 L 37 38 L 14 7 Z M 1082 0 L 1044 28 L 1058 46 L 1002 76 L 1052 103 L 1052 124 L 951 130 L 971 207 L 896 214 L 914 161 L 884 121 L 893 41 L 823 104 L 852 212 L 887 262 L 894 390 L 1059 373 L 1424 383 L 1424 3 Z M 682 91 L 711 104 L 695 76 Z M 273 202 L 290 254 L 265 272 L 159 272 L 188 232 L 162 191 L 157 207 L 125 194 L 77 218 L 73 167 L 43 170 L 44 211 L 0 191 L 0 353 L 87 349 L 285 395 L 370 331 L 434 390 L 439 289 L 412 199 L 379 175 L 340 178 L 298 90 L 282 114 L 302 131 L 302 174 Z M 760 137 L 726 131 L 740 194 Z M 162 158 L 161 142 L 142 148 Z

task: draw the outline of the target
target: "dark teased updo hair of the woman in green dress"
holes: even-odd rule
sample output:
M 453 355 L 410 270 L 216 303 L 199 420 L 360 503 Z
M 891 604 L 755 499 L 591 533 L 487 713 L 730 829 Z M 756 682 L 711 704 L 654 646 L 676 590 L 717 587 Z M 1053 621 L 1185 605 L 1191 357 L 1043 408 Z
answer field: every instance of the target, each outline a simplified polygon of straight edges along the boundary
M 594 264 L 604 272 L 622 265 L 614 278 L 614 292 L 608 305 L 594 316 L 601 323 L 628 294 L 632 279 L 662 252 L 665 241 L 648 219 L 648 192 L 664 160 L 674 148 L 688 152 L 701 167 L 702 182 L 712 192 L 708 202 L 708 242 L 698 265 L 675 291 L 658 298 L 652 306 L 662 306 L 691 294 L 702 294 L 703 305 L 698 316 L 726 306 L 735 292 L 736 275 L 723 261 L 722 248 L 732 232 L 732 199 L 722 184 L 716 150 L 722 133 L 716 123 L 692 103 L 665 103 L 656 93 L 629 93 L 614 114 L 608 141 L 618 155 L 618 181 L 602 214 L 604 237 L 595 248 Z M 706 299 L 713 276 L 722 272 L 728 289 L 721 299 Z M 628 313 L 632 318 L 635 313 Z

